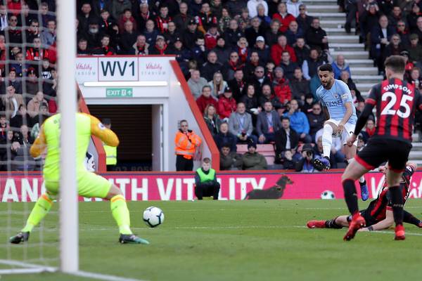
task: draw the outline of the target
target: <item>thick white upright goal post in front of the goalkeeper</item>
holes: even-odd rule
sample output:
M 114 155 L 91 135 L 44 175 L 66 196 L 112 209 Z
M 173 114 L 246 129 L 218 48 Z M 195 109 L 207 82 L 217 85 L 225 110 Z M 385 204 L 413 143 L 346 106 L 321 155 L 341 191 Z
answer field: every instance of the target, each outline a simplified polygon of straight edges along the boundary
M 58 104 L 60 120 L 60 270 L 79 270 L 76 181 L 76 1 L 57 1 Z

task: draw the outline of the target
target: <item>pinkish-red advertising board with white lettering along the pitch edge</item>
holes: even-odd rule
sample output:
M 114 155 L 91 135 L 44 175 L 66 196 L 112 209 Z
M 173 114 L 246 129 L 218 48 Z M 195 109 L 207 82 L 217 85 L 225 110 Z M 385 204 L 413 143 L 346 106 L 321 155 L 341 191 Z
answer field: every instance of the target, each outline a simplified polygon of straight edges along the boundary
M 127 200 L 192 200 L 195 197 L 195 183 L 190 174 L 104 174 L 109 181 L 120 187 Z M 219 174 L 222 188 L 220 200 L 243 200 L 254 189 L 268 190 L 283 175 L 279 173 Z M 321 192 L 331 190 L 336 198 L 343 198 L 340 184 L 341 173 L 321 174 L 286 174 L 292 184 L 283 185 L 281 199 L 319 199 Z M 383 175 L 370 173 L 366 175 L 371 197 L 376 197 L 383 185 Z M 422 197 L 422 171 L 417 171 L 411 181 L 411 198 Z M 33 202 L 41 195 L 41 176 L 18 176 L 0 178 L 1 202 Z M 357 187 L 359 190 L 359 187 Z M 359 192 L 358 192 L 359 193 Z M 279 196 L 278 194 L 277 196 Z M 80 198 L 83 200 L 83 198 Z M 87 200 L 87 199 L 86 199 Z M 89 199 L 91 200 L 91 199 Z

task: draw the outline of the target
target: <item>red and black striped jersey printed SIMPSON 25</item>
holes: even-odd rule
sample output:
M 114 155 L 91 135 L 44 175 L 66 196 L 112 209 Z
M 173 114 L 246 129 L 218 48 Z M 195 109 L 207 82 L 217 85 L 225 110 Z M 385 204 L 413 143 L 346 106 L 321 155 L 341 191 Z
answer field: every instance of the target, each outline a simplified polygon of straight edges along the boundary
M 400 79 L 384 80 L 372 87 L 366 104 L 376 106 L 376 131 L 372 138 L 393 138 L 411 143 L 416 110 L 422 110 L 421 94 Z

